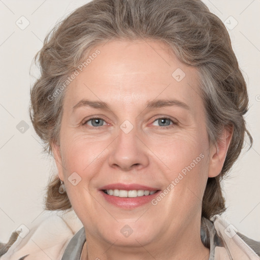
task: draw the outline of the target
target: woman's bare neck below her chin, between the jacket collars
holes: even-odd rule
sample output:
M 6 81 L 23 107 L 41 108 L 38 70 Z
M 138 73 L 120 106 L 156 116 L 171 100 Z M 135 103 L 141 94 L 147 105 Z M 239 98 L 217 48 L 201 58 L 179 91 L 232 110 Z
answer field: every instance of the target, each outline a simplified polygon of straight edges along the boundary
M 136 247 L 118 246 L 116 242 L 102 243 L 100 239 L 86 236 L 87 243 L 84 244 L 80 260 L 208 260 L 209 249 L 201 241 L 200 222 L 190 224 L 174 236 L 165 234 L 146 245 L 137 242 Z

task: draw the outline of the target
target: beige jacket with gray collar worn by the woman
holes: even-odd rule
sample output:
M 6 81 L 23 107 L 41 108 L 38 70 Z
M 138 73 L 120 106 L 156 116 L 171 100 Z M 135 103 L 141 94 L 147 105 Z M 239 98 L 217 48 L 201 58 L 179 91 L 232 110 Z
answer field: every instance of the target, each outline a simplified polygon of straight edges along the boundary
M 201 237 L 210 247 L 209 260 L 260 260 L 260 242 L 238 233 L 219 215 L 203 223 Z M 34 225 L 21 229 L 12 233 L 7 244 L 0 243 L 1 260 L 80 259 L 85 234 L 74 211 L 43 215 Z

